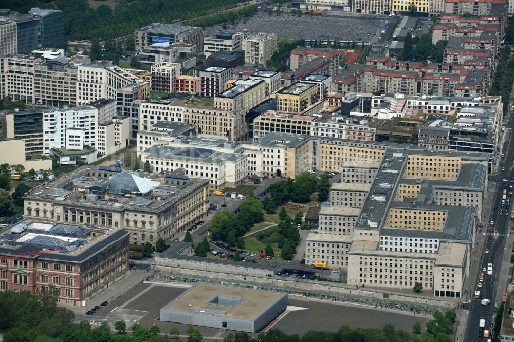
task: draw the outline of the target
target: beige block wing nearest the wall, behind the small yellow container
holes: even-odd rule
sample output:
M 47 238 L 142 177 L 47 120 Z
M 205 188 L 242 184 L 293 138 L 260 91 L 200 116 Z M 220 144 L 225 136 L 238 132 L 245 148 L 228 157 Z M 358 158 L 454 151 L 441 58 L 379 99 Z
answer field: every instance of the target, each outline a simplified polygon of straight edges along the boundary
M 330 269 L 348 267 L 347 252 L 352 244 L 351 236 L 310 233 L 304 243 L 306 265 L 321 262 Z

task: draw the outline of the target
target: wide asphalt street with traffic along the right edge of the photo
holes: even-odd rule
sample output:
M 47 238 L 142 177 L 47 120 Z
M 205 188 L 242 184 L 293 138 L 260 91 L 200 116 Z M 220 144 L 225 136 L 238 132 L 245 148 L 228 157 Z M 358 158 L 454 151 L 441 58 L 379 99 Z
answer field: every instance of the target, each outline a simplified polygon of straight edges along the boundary
M 507 122 L 507 127 L 512 128 L 513 122 L 511 120 L 512 115 L 509 117 Z M 505 131 L 507 132 L 507 131 Z M 510 221 L 510 208 L 507 211 L 508 215 L 505 215 L 505 212 L 500 215 L 500 209 L 505 211 L 505 206 L 501 207 L 502 196 L 503 196 L 503 188 L 504 184 L 514 185 L 514 183 L 508 183 L 502 181 L 502 179 L 514 179 L 514 170 L 512 170 L 512 161 L 514 160 L 513 156 L 513 139 L 505 139 L 505 143 L 501 152 L 505 154 L 505 158 L 500 166 L 505 166 L 505 173 L 499 173 L 494 178 L 497 180 L 495 185 L 495 193 L 493 197 L 493 203 L 490 207 L 491 220 L 494 221 L 494 232 L 489 233 L 489 222 L 482 222 L 484 224 L 483 230 L 486 230 L 486 239 L 484 240 L 482 248 L 479 248 L 476 251 L 476 254 L 473 254 L 473 257 L 483 256 L 480 261 L 479 272 L 476 274 L 470 274 L 470 279 L 472 281 L 471 291 L 469 293 L 471 302 L 469 305 L 468 311 L 468 320 L 467 320 L 467 328 L 465 330 L 465 338 L 464 341 L 483 341 L 483 337 L 479 337 L 479 321 L 480 319 L 486 320 L 486 329 L 490 330 L 489 325 L 493 322 L 493 315 L 495 313 L 495 298 L 497 298 L 497 292 L 503 292 L 504 289 L 498 289 L 498 281 L 499 278 L 508 276 L 507 274 L 502 274 L 500 272 L 502 267 L 502 260 L 504 257 L 504 248 L 505 248 L 505 240 L 508 234 L 508 225 Z M 485 203 L 487 205 L 487 203 Z M 494 210 L 494 206 L 498 208 L 498 210 Z M 485 212 L 484 208 L 484 212 Z M 487 216 L 486 216 L 487 217 Z M 488 250 L 489 253 L 485 253 L 485 250 Z M 482 269 L 487 269 L 487 264 L 493 264 L 493 273 L 492 275 L 487 275 L 487 272 L 484 274 L 483 286 L 478 288 L 477 284 L 479 282 L 479 276 Z M 480 290 L 480 295 L 484 296 L 484 298 L 490 299 L 491 304 L 488 306 L 481 305 L 480 299 L 474 298 L 474 291 Z M 498 303 L 499 304 L 499 303 Z

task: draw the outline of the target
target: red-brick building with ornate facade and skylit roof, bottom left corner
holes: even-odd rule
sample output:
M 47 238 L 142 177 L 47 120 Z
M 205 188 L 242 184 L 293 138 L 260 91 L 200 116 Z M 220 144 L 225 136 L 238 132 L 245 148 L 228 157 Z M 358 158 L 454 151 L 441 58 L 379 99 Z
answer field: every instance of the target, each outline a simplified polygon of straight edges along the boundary
M 52 216 L 47 208 L 41 214 Z M 41 218 L 24 220 L 2 234 L 0 290 L 52 290 L 61 305 L 80 307 L 128 273 L 127 231 Z M 16 254 L 23 256 L 9 257 Z

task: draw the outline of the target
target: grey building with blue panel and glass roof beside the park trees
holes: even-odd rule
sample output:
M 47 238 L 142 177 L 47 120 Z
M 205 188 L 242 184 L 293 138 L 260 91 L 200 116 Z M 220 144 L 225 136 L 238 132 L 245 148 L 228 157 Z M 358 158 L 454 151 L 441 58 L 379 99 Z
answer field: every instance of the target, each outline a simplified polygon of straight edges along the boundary
M 201 50 L 201 27 L 180 26 L 173 24 L 153 23 L 135 32 L 136 50 L 143 50 L 146 46 L 156 43 L 183 43 L 195 45 Z

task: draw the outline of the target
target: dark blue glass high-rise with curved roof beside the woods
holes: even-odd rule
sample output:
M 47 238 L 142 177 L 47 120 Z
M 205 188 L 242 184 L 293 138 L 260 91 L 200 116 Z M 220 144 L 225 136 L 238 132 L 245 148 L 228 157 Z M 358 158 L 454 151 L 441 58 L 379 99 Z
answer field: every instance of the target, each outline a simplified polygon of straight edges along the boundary
M 39 19 L 38 48 L 64 49 L 64 12 L 54 9 L 31 8 L 29 14 Z

